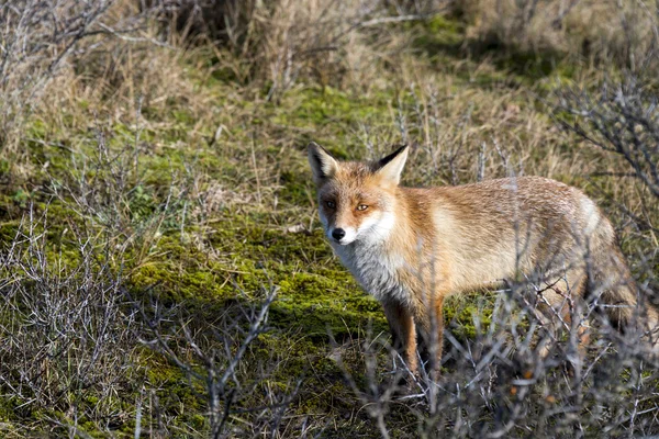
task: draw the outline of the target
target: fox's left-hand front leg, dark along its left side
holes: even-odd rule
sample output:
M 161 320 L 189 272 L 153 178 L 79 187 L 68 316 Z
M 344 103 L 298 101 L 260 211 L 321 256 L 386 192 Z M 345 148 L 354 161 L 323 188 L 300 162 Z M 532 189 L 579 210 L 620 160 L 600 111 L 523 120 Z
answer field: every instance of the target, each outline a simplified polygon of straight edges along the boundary
M 386 302 L 382 304 L 384 315 L 391 329 L 393 347 L 398 350 L 410 372 L 416 374 L 418 371 L 418 361 L 416 360 L 416 328 L 412 313 L 396 302 Z

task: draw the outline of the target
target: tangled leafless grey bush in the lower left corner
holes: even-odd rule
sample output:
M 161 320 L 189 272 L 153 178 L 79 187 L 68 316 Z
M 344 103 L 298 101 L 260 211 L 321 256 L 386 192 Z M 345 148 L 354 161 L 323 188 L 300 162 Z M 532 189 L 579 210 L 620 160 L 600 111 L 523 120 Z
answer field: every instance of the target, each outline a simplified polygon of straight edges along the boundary
M 125 421 L 116 393 L 134 389 L 136 372 L 121 273 L 103 258 L 109 249 L 78 226 L 54 226 L 47 210 L 31 209 L 0 252 L 2 389 L 18 413 L 60 410 L 51 421 L 71 435 L 81 418 L 103 430 Z M 53 248 L 54 237 L 75 241 L 77 251 Z

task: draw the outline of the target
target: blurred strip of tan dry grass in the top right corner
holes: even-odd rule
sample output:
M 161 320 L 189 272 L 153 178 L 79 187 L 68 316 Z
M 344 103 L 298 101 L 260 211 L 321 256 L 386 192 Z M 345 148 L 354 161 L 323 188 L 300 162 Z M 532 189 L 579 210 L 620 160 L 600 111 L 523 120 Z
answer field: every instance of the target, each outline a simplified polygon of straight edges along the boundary
M 657 49 L 651 1 L 476 0 L 460 8 L 472 38 L 516 50 L 614 63 L 640 72 Z

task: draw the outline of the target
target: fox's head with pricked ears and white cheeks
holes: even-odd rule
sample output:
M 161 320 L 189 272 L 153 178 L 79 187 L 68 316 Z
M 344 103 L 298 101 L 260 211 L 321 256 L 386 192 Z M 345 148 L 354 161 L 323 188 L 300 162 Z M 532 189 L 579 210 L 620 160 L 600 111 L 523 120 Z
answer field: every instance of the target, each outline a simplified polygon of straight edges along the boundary
M 342 246 L 387 239 L 407 147 L 372 162 L 338 161 L 313 142 L 308 150 L 327 238 Z

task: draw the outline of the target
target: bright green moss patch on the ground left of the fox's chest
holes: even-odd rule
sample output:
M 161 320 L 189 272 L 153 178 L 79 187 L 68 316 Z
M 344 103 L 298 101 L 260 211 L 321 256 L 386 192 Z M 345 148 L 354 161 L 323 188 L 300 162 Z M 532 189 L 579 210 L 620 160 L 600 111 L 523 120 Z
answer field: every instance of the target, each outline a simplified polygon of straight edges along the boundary
M 133 291 L 155 291 L 165 303 L 199 303 L 206 311 L 219 311 L 234 300 L 257 299 L 271 283 L 279 289 L 271 306 L 275 327 L 303 330 L 319 339 L 326 339 L 328 333 L 343 337 L 369 322 L 386 329 L 379 304 L 332 259 L 322 234 L 237 227 L 234 221 L 216 223 L 217 233 L 211 237 L 224 261 L 211 260 L 176 237 L 164 237 L 163 258 L 132 272 Z M 304 259 L 308 271 L 298 271 Z

